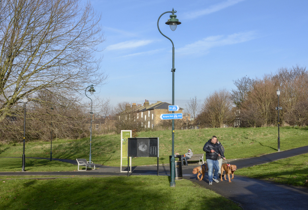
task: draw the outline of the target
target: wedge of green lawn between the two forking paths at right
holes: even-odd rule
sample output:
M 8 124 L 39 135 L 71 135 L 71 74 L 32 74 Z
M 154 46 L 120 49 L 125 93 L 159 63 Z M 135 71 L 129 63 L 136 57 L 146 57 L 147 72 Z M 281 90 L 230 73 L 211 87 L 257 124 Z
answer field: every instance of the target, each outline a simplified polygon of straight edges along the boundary
M 236 170 L 236 174 L 308 187 L 308 154 Z

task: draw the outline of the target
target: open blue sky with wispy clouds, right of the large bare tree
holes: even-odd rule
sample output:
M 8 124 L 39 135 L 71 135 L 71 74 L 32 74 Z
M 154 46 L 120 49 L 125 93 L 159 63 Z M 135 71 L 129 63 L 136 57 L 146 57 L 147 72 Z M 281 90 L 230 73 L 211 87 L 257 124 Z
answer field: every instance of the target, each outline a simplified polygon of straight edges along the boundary
M 92 0 L 102 14 L 106 41 L 101 70 L 108 83 L 97 96 L 111 103 L 172 102 L 172 44 L 157 19 L 172 8 L 182 23 L 160 30 L 175 46 L 175 105 L 185 108 L 232 80 L 260 78 L 278 68 L 308 64 L 308 1 L 305 0 Z

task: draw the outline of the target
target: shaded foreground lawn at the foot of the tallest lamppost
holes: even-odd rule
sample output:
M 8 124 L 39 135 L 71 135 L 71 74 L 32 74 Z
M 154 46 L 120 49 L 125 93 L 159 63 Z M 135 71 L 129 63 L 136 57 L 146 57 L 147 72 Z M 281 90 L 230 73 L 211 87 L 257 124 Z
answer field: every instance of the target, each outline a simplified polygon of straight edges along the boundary
M 17 179 L 0 182 L 1 209 L 240 210 L 232 201 L 188 180 L 167 176 Z

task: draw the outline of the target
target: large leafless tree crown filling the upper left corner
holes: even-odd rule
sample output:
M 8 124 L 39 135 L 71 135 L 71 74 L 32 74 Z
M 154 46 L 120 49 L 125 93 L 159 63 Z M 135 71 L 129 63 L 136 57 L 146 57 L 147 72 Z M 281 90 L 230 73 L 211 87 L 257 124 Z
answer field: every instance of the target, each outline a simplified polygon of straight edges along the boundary
M 79 0 L 0 0 L 0 123 L 18 113 L 24 96 L 51 104 L 39 92 L 63 97 L 102 84 L 96 46 L 104 41 L 100 16 Z M 78 102 L 76 97 L 66 101 Z M 56 106 L 66 106 L 57 101 Z M 28 103 L 30 104 L 30 103 Z

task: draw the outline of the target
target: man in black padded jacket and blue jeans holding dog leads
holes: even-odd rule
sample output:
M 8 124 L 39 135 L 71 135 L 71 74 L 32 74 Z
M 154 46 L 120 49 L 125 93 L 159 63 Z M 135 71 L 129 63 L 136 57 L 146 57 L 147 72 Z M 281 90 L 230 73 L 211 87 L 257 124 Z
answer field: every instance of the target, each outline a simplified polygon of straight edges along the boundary
M 213 136 L 212 139 L 210 139 L 208 142 L 205 143 L 203 147 L 203 151 L 205 151 L 205 159 L 206 163 L 208 163 L 209 167 L 209 184 L 213 183 L 213 180 L 215 182 L 218 181 L 218 171 L 219 171 L 219 163 L 218 163 L 218 156 L 223 156 L 225 160 L 225 155 L 223 151 L 221 150 L 219 144 L 217 143 L 217 137 Z M 213 167 L 215 169 L 215 173 L 213 175 Z

